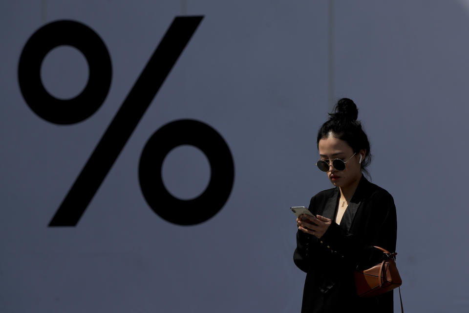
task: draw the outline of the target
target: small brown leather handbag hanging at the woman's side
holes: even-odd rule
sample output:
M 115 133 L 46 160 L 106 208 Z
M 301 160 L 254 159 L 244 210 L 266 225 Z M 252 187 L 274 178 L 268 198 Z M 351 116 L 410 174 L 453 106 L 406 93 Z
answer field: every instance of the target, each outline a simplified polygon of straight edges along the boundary
M 379 246 L 383 252 L 381 263 L 364 270 L 355 271 L 355 287 L 361 297 L 374 297 L 402 285 L 402 279 L 396 267 L 396 252 L 390 253 Z

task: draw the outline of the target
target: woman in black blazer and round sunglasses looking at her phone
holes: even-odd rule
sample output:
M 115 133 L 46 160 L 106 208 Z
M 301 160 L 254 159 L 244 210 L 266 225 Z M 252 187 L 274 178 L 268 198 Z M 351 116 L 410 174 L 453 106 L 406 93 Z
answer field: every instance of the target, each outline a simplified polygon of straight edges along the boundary
M 318 133 L 317 166 L 335 188 L 311 199 L 314 216 L 297 219 L 294 262 L 307 273 L 301 312 L 392 313 L 393 293 L 358 297 L 353 271 L 364 247 L 395 251 L 396 207 L 386 190 L 362 174 L 371 160 L 370 144 L 355 103 L 343 98 L 329 115 Z

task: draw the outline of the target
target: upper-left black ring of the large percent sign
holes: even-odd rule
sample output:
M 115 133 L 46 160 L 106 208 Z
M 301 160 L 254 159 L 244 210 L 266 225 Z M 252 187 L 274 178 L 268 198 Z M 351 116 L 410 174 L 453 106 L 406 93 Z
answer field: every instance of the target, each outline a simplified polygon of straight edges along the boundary
M 72 99 L 53 97 L 41 80 L 45 56 L 60 45 L 77 48 L 88 62 L 86 87 Z M 55 124 L 78 123 L 96 112 L 106 99 L 111 77 L 111 59 L 106 45 L 91 28 L 75 21 L 51 22 L 38 29 L 24 45 L 18 65 L 18 81 L 27 105 Z

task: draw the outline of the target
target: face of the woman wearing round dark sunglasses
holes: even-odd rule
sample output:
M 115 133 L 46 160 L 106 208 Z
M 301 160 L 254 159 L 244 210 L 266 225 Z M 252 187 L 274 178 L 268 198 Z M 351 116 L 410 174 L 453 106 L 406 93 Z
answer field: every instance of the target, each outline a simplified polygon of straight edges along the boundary
M 352 147 L 332 134 L 327 138 L 320 139 L 318 148 L 321 160 L 326 160 L 329 163 L 327 177 L 334 186 L 347 187 L 362 177 L 362 166 L 359 160 L 360 156 L 362 156 L 363 160 L 365 151 L 361 150 L 353 156 Z M 335 158 L 340 158 L 346 162 L 343 171 L 338 171 L 332 166 L 332 162 L 328 161 Z

